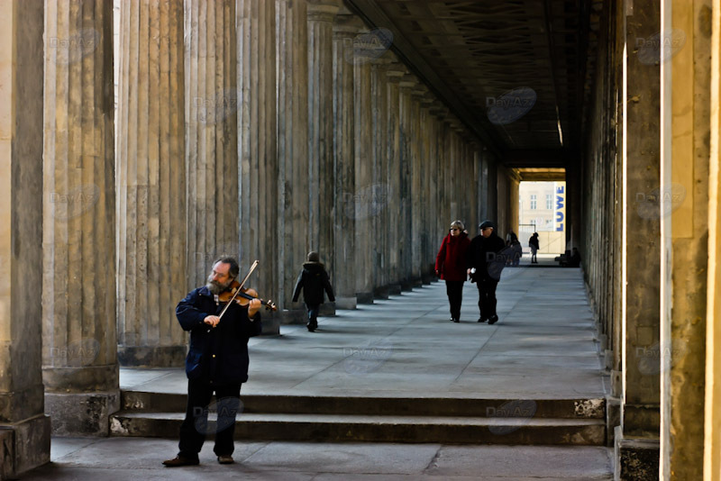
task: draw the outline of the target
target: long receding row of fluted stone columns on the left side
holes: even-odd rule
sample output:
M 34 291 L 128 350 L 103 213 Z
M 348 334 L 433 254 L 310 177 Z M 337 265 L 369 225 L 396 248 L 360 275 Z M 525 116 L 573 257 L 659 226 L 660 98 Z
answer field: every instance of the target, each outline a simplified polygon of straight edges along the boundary
M 36 160 L 32 180 L 33 164 L 10 154 L 4 178 L 18 195 L 0 244 L 10 259 L 3 315 L 31 313 L 14 281 L 28 269 L 42 286 L 42 309 L 30 315 L 41 319 L 42 342 L 25 324 L 2 331 L 10 374 L 0 378 L 0 405 L 11 411 L 0 422 L 37 424 L 41 438 L 43 412 L 57 434 L 105 434 L 119 407 L 119 364 L 182 363 L 187 338 L 174 307 L 220 254 L 243 267 L 260 259 L 251 285 L 280 295 L 293 318 L 292 284 L 308 250 L 321 252 L 336 305 L 353 308 L 427 282 L 448 223 L 479 220 L 469 181 L 478 147 L 391 52 L 365 49 L 368 27 L 340 2 L 121 2 L 116 138 L 112 7 L 49 1 L 44 25 L 23 23 L 35 43 L 9 40 L 24 59 L 45 36 L 44 58 L 6 74 L 16 85 L 44 69 L 38 92 L 12 93 L 27 112 L 4 117 L 44 123 L 42 141 L 28 127 L 20 143 L 5 135 L 20 130 L 4 126 L 5 143 L 37 152 L 17 154 Z M 18 8 L 4 18 L 38 14 Z M 26 193 L 39 204 L 34 216 Z M 11 245 L 8 226 L 20 224 Z M 269 316 L 271 330 L 278 317 Z M 11 342 L 34 361 L 21 368 Z M 25 407 L 15 409 L 23 390 Z

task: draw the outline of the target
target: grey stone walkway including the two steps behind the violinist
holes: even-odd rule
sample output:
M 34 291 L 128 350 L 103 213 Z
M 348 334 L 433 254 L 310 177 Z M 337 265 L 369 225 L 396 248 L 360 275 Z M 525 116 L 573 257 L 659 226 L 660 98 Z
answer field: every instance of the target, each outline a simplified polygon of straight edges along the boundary
M 495 325 L 443 282 L 250 342 L 234 458 L 177 452 L 182 369 L 121 370 L 110 438 L 54 438 L 27 479 L 611 479 L 604 376 L 579 268 L 507 268 Z M 211 406 L 213 408 L 214 406 Z

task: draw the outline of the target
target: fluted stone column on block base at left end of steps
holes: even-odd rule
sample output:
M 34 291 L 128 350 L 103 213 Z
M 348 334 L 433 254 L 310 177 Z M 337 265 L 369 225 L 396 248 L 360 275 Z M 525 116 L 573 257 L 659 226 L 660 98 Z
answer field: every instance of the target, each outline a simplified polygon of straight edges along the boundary
M 107 435 L 120 405 L 112 33 L 112 2 L 45 5 L 42 357 L 56 435 Z

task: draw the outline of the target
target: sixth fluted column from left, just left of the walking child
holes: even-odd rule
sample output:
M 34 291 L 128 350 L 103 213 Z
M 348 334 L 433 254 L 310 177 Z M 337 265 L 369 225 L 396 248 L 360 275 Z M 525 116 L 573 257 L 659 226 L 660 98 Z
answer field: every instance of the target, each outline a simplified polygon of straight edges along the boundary
M 284 322 L 307 322 L 293 287 L 308 250 L 308 50 L 306 0 L 276 0 L 278 32 L 278 293 Z M 315 198 L 317 202 L 317 198 Z M 304 322 L 304 323 L 305 323 Z

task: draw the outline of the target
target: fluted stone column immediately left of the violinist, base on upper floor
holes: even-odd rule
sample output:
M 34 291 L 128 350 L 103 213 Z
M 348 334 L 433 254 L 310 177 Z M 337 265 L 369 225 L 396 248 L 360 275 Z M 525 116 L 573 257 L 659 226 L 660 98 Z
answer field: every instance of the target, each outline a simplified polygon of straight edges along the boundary
M 121 2 L 118 359 L 182 366 L 175 305 L 187 294 L 183 3 Z

